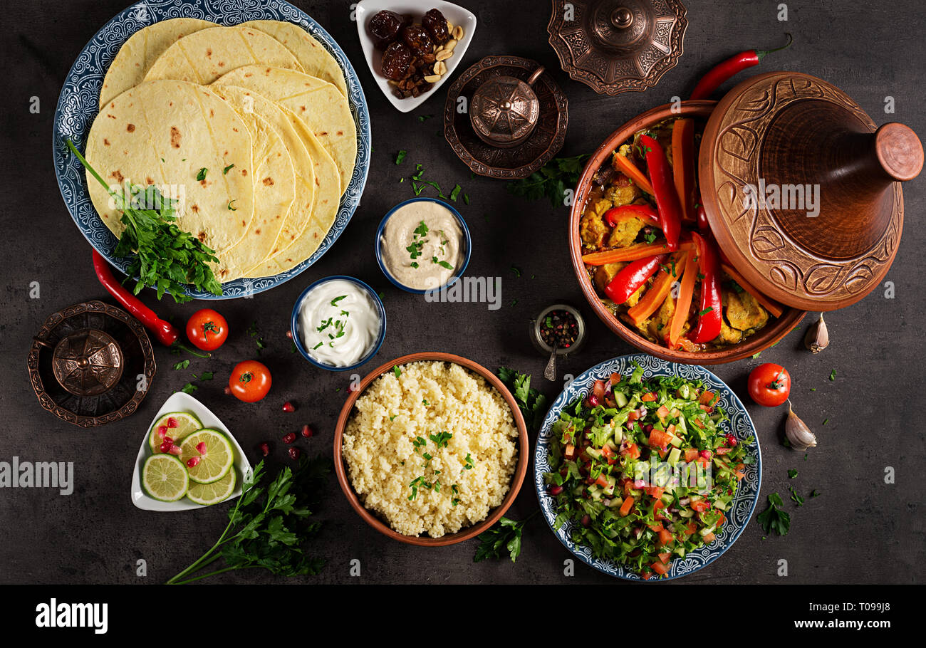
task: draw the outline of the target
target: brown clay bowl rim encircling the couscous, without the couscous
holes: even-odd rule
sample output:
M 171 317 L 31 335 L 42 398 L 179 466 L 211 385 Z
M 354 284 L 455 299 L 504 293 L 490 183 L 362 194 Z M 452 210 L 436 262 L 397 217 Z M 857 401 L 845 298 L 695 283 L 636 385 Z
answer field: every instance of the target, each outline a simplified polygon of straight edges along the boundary
M 344 459 L 341 456 L 341 445 L 344 438 L 344 428 L 347 427 L 347 421 L 353 413 L 354 404 L 357 403 L 357 398 L 359 398 L 360 395 L 367 390 L 373 380 L 378 379 L 380 376 L 382 376 L 382 374 L 388 371 L 392 371 L 394 366 L 405 365 L 409 362 L 421 361 L 452 362 L 464 368 L 468 368 L 473 373 L 482 376 L 482 378 L 487 380 L 490 385 L 498 390 L 498 393 L 502 394 L 502 397 L 505 399 L 508 407 L 511 408 L 511 414 L 514 416 L 515 425 L 518 427 L 518 467 L 515 469 L 515 474 L 511 478 L 511 488 L 508 490 L 507 495 L 505 496 L 505 500 L 489 514 L 489 517 L 486 517 L 479 524 L 475 524 L 467 529 L 457 531 L 457 533 L 449 533 L 447 535 L 441 536 L 440 538 L 402 535 L 401 533 L 392 530 L 389 525 L 377 517 L 376 514 L 364 508 L 363 504 L 360 502 L 360 498 L 357 497 L 357 492 L 354 492 L 354 488 L 351 486 L 350 481 L 347 478 L 347 472 L 344 467 Z M 495 377 L 495 375 L 487 368 L 482 367 L 482 365 L 479 365 L 472 360 L 468 360 L 465 357 L 460 357 L 459 355 L 441 354 L 436 352 L 403 355 L 402 357 L 395 358 L 391 362 L 387 362 L 386 364 L 382 365 L 382 367 L 373 369 L 373 371 L 371 371 L 366 378 L 360 381 L 360 386 L 357 391 L 352 392 L 347 398 L 347 401 L 344 403 L 344 407 L 341 409 L 341 416 L 338 417 L 337 427 L 334 430 L 334 473 L 337 475 L 338 483 L 341 484 L 341 490 L 344 491 L 344 495 L 347 497 L 347 501 L 351 506 L 354 507 L 354 510 L 357 511 L 357 515 L 362 517 L 370 527 L 378 530 L 380 533 L 392 538 L 393 540 L 406 542 L 407 544 L 416 544 L 423 547 L 444 547 L 448 544 L 463 542 L 469 540 L 470 538 L 475 538 L 477 535 L 482 533 L 482 531 L 488 530 L 490 527 L 492 527 L 492 525 L 494 525 L 494 523 L 497 522 L 500 517 L 505 515 L 508 507 L 514 504 L 515 498 L 518 497 L 521 484 L 524 483 L 524 476 L 527 474 L 528 463 L 531 460 L 530 453 L 531 449 L 528 443 L 527 426 L 524 424 L 524 417 L 521 416 L 518 404 L 515 402 L 515 399 L 511 393 L 508 392 L 505 384 L 501 380 L 498 380 L 498 378 Z

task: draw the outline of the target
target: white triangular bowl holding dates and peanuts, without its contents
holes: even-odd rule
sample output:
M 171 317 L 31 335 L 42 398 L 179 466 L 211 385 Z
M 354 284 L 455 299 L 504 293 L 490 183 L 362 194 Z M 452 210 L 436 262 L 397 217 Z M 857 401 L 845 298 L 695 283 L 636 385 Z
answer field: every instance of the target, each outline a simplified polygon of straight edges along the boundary
M 367 31 L 367 23 L 383 9 L 394 11 L 399 15 L 409 14 L 415 18 L 415 22 L 421 22 L 424 14 L 431 9 L 438 9 L 444 18 L 463 28 L 463 38 L 454 48 L 454 56 L 444 59 L 447 71 L 440 81 L 434 83 L 434 87 L 427 93 L 417 97 L 408 97 L 399 99 L 393 93 L 393 87 L 389 85 L 389 80 L 382 76 L 380 60 L 382 51 L 376 49 L 373 39 Z M 399 111 L 407 113 L 414 110 L 428 99 L 431 98 L 437 89 L 444 85 L 444 81 L 450 78 L 457 69 L 463 55 L 466 54 L 469 43 L 472 41 L 472 35 L 476 31 L 476 16 L 462 6 L 457 6 L 444 0 L 360 0 L 357 3 L 357 34 L 360 36 L 360 45 L 363 47 L 363 57 L 367 60 L 367 66 L 373 79 L 380 86 L 382 93 L 386 95 L 390 103 Z

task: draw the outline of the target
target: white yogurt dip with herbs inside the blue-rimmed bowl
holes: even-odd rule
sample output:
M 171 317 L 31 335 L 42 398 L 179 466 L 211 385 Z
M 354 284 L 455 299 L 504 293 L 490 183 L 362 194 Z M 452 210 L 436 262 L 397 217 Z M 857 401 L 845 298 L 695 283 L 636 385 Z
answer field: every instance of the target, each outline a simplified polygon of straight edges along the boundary
M 299 305 L 299 328 L 306 352 L 330 367 L 356 365 L 376 343 L 382 321 L 375 302 L 353 281 L 325 281 Z

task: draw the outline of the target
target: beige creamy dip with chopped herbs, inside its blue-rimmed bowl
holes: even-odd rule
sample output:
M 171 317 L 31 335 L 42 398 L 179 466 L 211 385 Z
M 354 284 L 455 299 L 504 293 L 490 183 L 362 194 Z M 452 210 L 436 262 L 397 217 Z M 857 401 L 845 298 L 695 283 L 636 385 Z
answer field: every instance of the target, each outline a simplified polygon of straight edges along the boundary
M 413 290 L 440 288 L 463 263 L 463 230 L 440 203 L 419 200 L 399 207 L 380 239 L 382 265 L 394 280 Z

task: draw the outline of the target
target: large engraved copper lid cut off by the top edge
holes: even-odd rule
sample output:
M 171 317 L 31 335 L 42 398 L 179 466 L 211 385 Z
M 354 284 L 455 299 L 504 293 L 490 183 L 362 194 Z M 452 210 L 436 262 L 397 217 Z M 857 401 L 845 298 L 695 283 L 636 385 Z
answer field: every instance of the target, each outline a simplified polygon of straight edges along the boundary
M 682 56 L 680 0 L 553 0 L 546 31 L 563 70 L 596 93 L 640 92 Z

